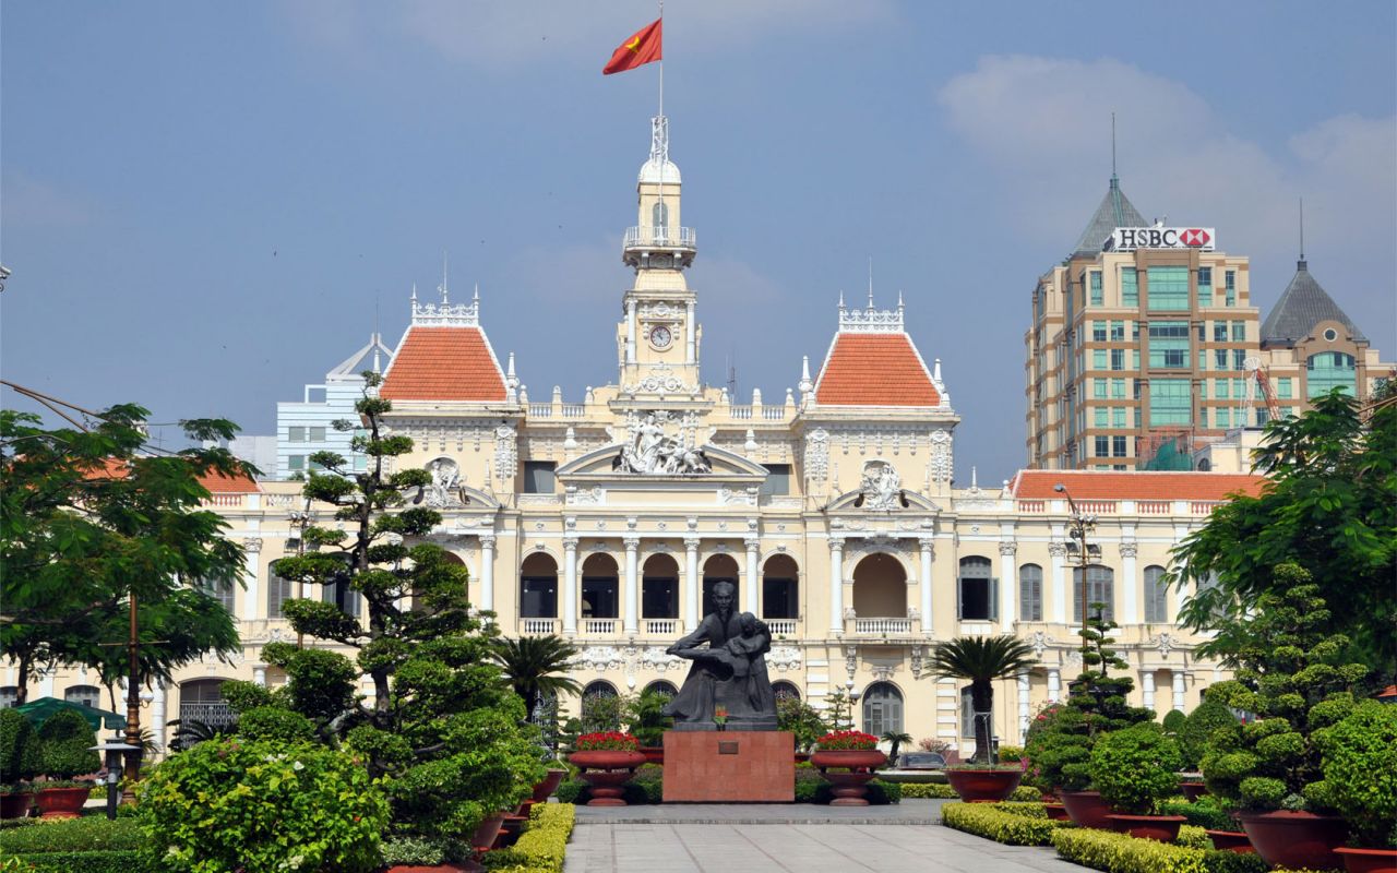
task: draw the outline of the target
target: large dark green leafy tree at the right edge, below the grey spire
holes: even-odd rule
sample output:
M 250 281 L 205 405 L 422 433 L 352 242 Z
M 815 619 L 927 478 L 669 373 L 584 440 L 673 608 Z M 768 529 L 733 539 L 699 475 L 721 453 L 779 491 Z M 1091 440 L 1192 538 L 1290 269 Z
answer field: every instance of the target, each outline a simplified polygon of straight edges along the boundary
M 1268 476 L 1261 493 L 1220 506 L 1175 550 L 1173 584 L 1206 582 L 1180 623 L 1214 631 L 1199 652 L 1228 663 L 1246 616 L 1275 588 L 1273 568 L 1295 563 L 1329 603 L 1320 630 L 1345 636 L 1348 659 L 1387 684 L 1397 679 L 1397 384 L 1368 418 L 1338 390 L 1313 404 L 1267 425 L 1255 454 Z

